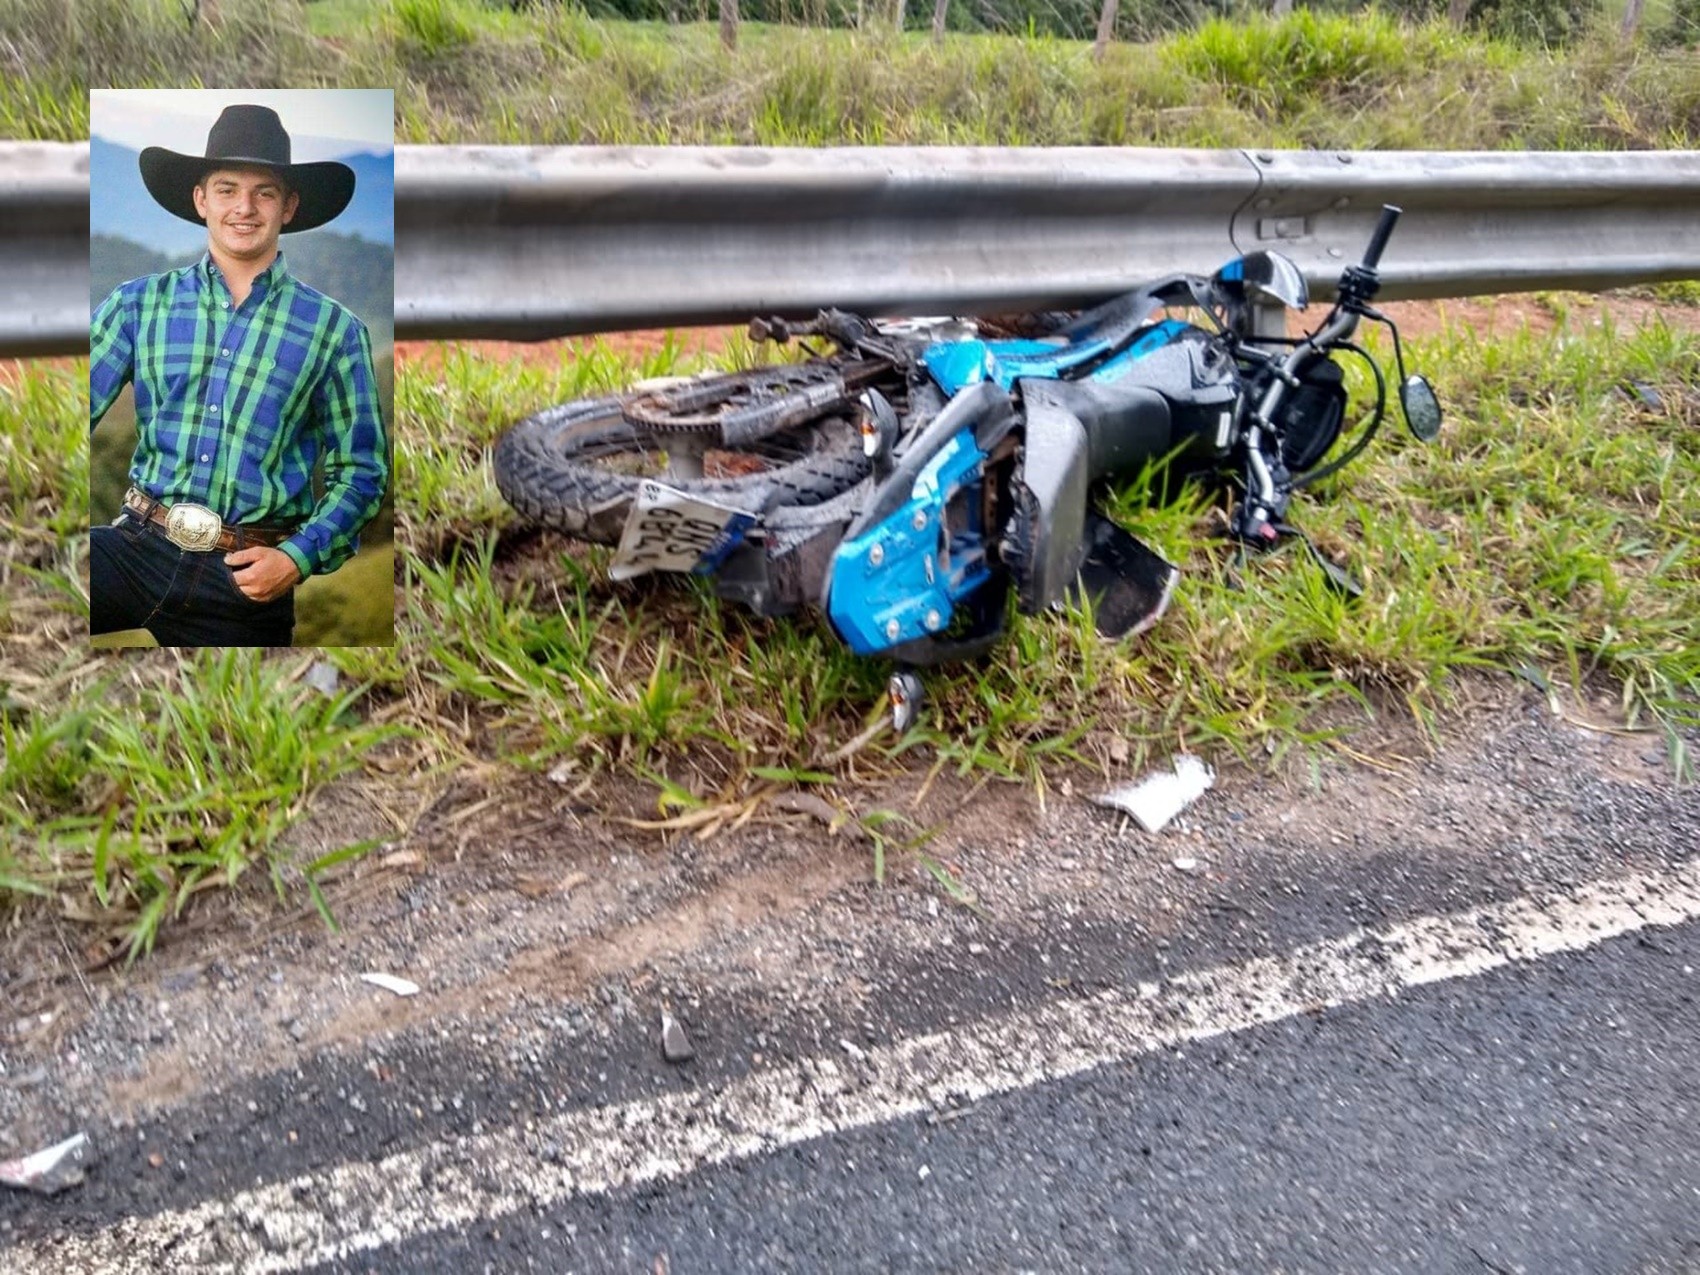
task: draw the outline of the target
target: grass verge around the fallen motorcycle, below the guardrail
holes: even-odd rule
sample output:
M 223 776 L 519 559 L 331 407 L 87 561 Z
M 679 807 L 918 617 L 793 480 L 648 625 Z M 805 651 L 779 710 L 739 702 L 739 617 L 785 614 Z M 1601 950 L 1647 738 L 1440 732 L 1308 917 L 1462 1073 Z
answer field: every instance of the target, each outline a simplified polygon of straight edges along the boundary
M 1149 479 L 1129 484 L 1119 517 L 1185 571 L 1153 632 L 1107 644 L 1081 614 L 1015 619 L 986 663 L 930 675 L 915 729 L 862 748 L 882 665 L 818 619 L 760 620 L 688 581 L 612 585 L 605 549 L 534 532 L 491 484 L 488 449 L 508 423 L 704 366 L 678 343 L 644 359 L 564 343 L 542 364 L 450 347 L 406 369 L 398 644 L 326 653 L 342 673 L 332 695 L 306 683 L 304 654 L 87 651 L 80 539 L 27 530 L 53 527 L 60 493 L 76 491 L 75 464 L 42 473 L 29 457 L 75 456 L 80 372 L 31 371 L 0 388 L 0 437 L 41 408 L 68 410 L 71 427 L 26 434 L 22 468 L 0 452 L 0 892 L 116 923 L 139 950 L 209 884 L 252 872 L 313 891 L 376 843 L 308 862 L 289 848 L 289 826 L 343 777 L 359 789 L 398 767 L 423 782 L 474 767 L 585 792 L 624 779 L 680 826 L 802 784 L 853 818 L 858 784 L 899 770 L 1042 796 L 1074 767 L 1122 774 L 1180 748 L 1248 765 L 1353 753 L 1374 717 L 1443 734 L 1477 673 L 1540 685 L 1569 712 L 1578 688 L 1610 687 L 1610 724 L 1663 736 L 1692 779 L 1700 323 L 1676 320 L 1496 340 L 1448 325 L 1413 340 L 1447 434 L 1423 447 L 1389 427 L 1295 508 L 1365 583 L 1357 604 L 1299 552 L 1236 564 L 1209 491 L 1158 507 Z

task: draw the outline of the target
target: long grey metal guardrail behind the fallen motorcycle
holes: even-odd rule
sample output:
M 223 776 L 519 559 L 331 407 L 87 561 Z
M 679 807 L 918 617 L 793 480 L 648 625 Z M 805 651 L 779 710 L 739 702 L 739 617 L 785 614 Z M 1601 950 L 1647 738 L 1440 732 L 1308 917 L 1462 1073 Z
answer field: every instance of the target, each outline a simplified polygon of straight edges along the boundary
M 0 144 L 0 354 L 85 347 L 87 167 Z M 1258 246 L 1326 296 L 1382 202 L 1394 299 L 1700 277 L 1695 151 L 400 146 L 396 335 L 1074 304 Z

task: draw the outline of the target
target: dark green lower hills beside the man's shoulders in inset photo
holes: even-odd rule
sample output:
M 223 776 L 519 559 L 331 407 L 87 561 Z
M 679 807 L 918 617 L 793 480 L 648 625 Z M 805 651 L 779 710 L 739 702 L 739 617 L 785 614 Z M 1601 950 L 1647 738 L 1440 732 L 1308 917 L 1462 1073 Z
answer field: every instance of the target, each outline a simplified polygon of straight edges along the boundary
M 374 348 L 394 342 L 396 258 L 388 243 L 372 243 L 330 230 L 309 230 L 284 238 L 282 250 L 289 274 L 352 309 L 372 333 Z M 201 231 L 199 243 L 175 252 L 160 252 L 119 235 L 90 235 L 90 313 L 126 279 L 189 265 L 204 252 L 206 231 Z

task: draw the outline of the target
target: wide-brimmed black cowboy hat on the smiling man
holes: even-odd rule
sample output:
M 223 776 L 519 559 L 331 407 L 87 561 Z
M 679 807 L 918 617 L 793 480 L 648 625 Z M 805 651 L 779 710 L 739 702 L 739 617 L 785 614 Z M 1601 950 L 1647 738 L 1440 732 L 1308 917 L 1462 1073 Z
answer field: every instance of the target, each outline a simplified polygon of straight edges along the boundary
M 313 230 L 335 218 L 354 199 L 354 168 L 335 160 L 289 163 L 289 134 L 277 112 L 262 105 L 228 105 L 207 133 L 206 155 L 178 155 L 163 146 L 141 153 L 141 180 L 167 212 L 206 224 L 196 212 L 196 182 L 214 168 L 257 163 L 274 168 L 301 196 L 284 233 Z

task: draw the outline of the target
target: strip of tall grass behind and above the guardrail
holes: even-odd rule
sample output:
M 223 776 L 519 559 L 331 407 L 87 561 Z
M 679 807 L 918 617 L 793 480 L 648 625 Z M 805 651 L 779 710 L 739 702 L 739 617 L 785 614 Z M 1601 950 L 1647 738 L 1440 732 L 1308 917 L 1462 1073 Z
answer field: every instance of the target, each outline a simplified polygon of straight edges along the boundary
M 88 87 L 386 83 L 413 143 L 1685 148 L 1700 76 L 1680 42 L 1603 15 L 1564 49 L 1380 10 L 1214 19 L 1100 63 L 1085 41 L 604 22 L 481 0 L 15 0 L 0 131 L 87 134 Z M 1658 8 L 1658 7 L 1656 7 Z M 1663 27 L 1659 27 L 1663 31 Z M 1692 37 L 1690 37 L 1692 42 Z

